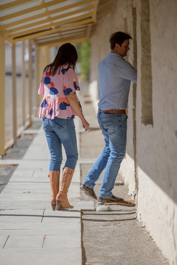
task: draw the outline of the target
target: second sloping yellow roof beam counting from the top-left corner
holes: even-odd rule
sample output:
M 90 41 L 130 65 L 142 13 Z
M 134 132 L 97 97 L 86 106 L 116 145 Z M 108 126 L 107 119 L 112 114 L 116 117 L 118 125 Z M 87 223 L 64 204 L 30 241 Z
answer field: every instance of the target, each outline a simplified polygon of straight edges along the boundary
M 37 10 L 40 10 L 40 9 L 43 9 L 43 8 L 46 8 L 46 7 L 49 7 L 49 6 L 54 6 L 56 4 L 60 4 L 60 3 L 65 2 L 65 1 L 68 1 L 68 0 L 53 0 L 53 1 L 47 2 L 45 4 L 40 4 L 40 5 L 37 5 L 37 6 L 33 6 L 33 7 L 30 7 L 30 8 L 21 10 L 21 11 L 17 11 L 15 13 L 11 13 L 11 14 L 6 15 L 6 16 L 1 16 L 0 17 L 0 21 L 4 21 L 4 20 L 11 19 L 11 18 L 14 18 L 14 17 L 18 17 L 18 16 L 22 16 L 22 15 L 25 15 L 25 14 L 29 14 L 30 12 L 34 12 L 34 11 L 37 11 Z

